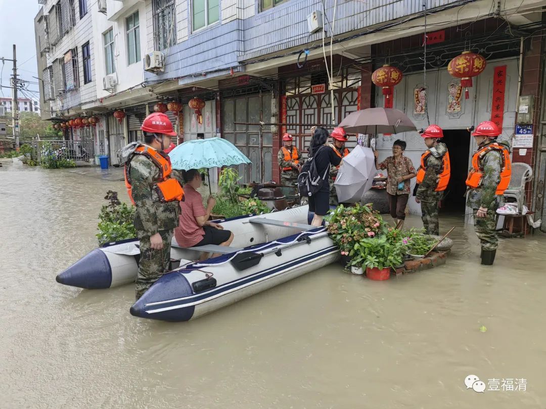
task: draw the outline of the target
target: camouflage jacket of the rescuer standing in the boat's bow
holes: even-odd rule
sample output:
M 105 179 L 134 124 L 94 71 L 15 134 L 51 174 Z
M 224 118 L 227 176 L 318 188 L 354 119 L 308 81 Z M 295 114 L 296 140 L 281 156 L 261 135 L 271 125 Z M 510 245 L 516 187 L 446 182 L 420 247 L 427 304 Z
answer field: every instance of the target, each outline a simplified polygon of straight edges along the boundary
M 163 203 L 153 189 L 153 185 L 159 181 L 157 166 L 144 155 L 134 155 L 129 165 L 129 177 L 136 207 L 134 225 L 138 237 L 150 237 L 159 230 L 173 230 L 177 227 L 179 201 Z M 171 177 L 182 182 L 180 174 L 175 170 Z

